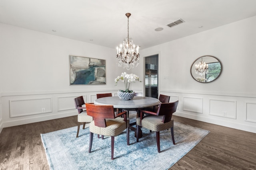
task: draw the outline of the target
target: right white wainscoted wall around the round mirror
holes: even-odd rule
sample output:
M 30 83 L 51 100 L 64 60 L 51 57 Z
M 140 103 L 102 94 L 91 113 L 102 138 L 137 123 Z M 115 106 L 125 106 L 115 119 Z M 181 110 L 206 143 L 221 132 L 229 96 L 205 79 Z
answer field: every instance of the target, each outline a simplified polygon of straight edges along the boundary
M 252 17 L 140 54 L 159 53 L 160 94 L 179 100 L 175 115 L 256 133 L 255 47 L 256 17 Z M 214 82 L 196 82 L 190 75 L 191 64 L 203 55 L 222 62 L 222 74 Z

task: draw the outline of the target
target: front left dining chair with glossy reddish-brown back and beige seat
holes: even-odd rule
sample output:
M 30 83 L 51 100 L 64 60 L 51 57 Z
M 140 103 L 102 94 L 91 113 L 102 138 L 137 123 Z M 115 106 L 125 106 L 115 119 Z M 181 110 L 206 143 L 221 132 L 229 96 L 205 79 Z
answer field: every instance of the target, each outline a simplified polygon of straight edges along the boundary
M 93 134 L 111 136 L 111 159 L 114 159 L 114 138 L 126 129 L 126 141 L 129 145 L 129 119 L 126 111 L 115 115 L 113 105 L 95 105 L 86 103 L 87 114 L 93 117 L 90 123 L 89 153 L 92 151 Z M 120 117 L 120 115 L 124 115 Z

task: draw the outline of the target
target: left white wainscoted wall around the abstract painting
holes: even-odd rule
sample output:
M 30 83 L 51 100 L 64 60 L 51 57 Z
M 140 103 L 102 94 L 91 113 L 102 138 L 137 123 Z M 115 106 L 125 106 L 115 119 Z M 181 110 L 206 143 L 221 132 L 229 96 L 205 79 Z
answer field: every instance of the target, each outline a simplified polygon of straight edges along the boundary
M 112 92 L 114 78 L 126 71 L 110 49 L 0 23 L 0 130 L 3 127 L 76 115 L 74 98 L 93 102 Z M 106 85 L 69 83 L 69 55 L 106 60 Z M 1 103 L 0 103 L 1 104 Z M 45 112 L 42 113 L 42 108 Z

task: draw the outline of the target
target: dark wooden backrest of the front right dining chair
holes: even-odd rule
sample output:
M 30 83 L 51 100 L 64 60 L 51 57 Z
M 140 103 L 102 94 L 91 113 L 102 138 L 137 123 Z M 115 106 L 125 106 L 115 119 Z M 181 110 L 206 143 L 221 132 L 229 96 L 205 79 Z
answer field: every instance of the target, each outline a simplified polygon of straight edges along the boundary
M 172 119 L 172 113 L 174 113 L 177 109 L 178 102 L 171 102 L 171 103 L 160 103 L 158 110 L 156 112 L 157 115 L 164 115 L 162 120 L 163 123 L 169 122 Z

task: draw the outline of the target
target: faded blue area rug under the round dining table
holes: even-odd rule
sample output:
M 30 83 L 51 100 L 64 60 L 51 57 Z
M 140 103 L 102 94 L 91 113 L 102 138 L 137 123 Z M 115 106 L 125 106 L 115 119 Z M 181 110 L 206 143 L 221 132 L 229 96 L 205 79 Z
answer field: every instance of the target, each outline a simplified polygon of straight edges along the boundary
M 82 126 L 81 126 L 82 127 Z M 89 127 L 77 127 L 41 134 L 51 170 L 165 170 L 198 144 L 209 131 L 174 122 L 172 143 L 170 129 L 160 132 L 160 150 L 157 152 L 156 133 L 142 128 L 138 143 L 130 130 L 130 145 L 126 144 L 126 131 L 115 137 L 114 160 L 111 160 L 111 138 L 98 139 L 94 134 L 92 152 L 89 149 Z

